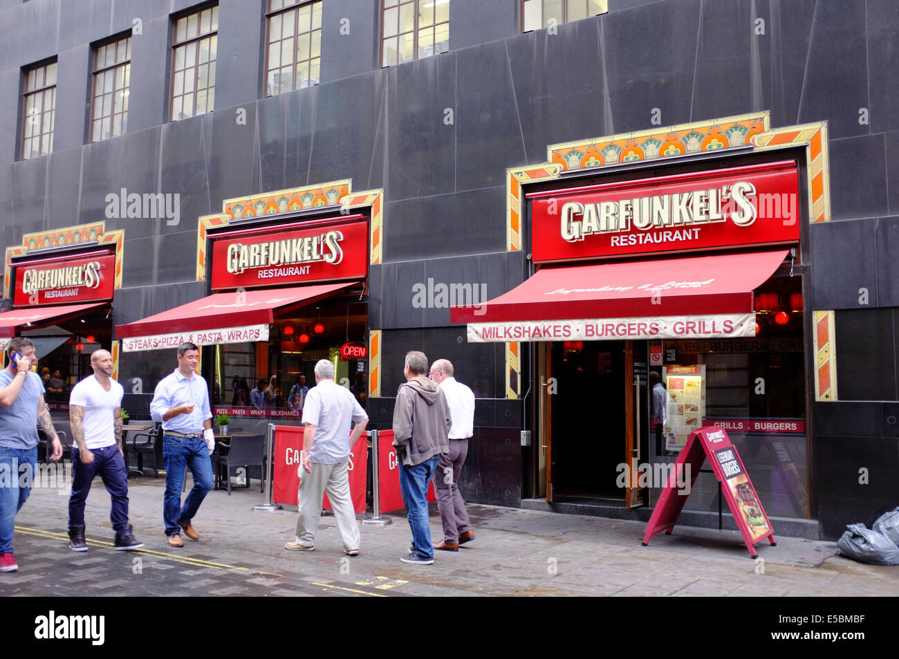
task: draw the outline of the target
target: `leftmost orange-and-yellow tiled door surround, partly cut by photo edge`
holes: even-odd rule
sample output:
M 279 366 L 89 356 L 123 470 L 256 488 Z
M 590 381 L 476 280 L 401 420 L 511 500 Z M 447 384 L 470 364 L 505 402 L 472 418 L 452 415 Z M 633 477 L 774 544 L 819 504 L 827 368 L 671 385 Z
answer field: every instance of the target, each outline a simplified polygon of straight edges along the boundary
M 49 231 L 38 231 L 22 236 L 22 245 L 13 245 L 6 248 L 4 259 L 3 297 L 10 298 L 10 274 L 12 272 L 13 257 L 24 256 L 40 249 L 52 249 L 67 245 L 81 245 L 97 241 L 103 246 L 115 247 L 115 276 L 112 281 L 113 289 L 121 288 L 121 267 L 125 254 L 125 230 L 106 230 L 105 222 L 93 222 L 76 227 L 63 227 Z M 119 342 L 112 342 L 112 377 L 119 378 Z

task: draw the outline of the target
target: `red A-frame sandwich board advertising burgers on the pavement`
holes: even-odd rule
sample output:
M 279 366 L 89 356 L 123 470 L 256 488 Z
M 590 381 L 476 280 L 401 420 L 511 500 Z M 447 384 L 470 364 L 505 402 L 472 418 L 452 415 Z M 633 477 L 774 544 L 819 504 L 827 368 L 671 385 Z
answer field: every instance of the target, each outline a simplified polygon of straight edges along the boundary
M 692 491 L 699 469 L 707 458 L 727 505 L 734 514 L 734 521 L 743 535 L 743 542 L 749 549 L 750 557 L 758 557 L 755 545 L 765 538 L 769 539 L 772 547 L 775 547 L 777 542 L 774 539 L 774 530 L 771 528 L 768 514 L 761 507 L 759 495 L 752 486 L 749 474 L 743 468 L 743 460 L 740 459 L 740 454 L 731 443 L 727 432 L 716 425 L 690 433 L 690 439 L 678 454 L 674 469 L 668 476 L 668 484 L 662 490 L 659 503 L 656 504 L 649 523 L 646 524 L 643 546 L 649 544 L 649 539 L 661 531 L 664 531 L 665 535 L 671 535 L 674 524 L 681 515 L 684 504 L 687 503 L 687 496 L 678 491 L 677 475 L 683 474 L 684 469 L 690 469 L 688 492 Z M 750 523 L 759 522 L 762 518 L 764 524 Z

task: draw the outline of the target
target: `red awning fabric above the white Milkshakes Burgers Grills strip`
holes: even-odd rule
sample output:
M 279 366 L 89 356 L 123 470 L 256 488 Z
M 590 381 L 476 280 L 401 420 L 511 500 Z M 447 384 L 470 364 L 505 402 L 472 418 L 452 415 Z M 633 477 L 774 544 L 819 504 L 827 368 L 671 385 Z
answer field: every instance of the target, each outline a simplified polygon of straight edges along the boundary
M 786 250 L 541 268 L 480 307 L 451 307 L 453 323 L 752 313 L 752 290 Z

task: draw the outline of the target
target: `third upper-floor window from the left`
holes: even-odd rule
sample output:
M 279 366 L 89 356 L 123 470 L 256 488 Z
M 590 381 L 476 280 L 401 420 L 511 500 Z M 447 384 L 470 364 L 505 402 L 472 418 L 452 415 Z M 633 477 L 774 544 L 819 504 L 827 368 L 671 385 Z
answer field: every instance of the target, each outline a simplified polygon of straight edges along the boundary
M 170 119 L 211 111 L 216 101 L 218 4 L 176 18 L 172 50 Z

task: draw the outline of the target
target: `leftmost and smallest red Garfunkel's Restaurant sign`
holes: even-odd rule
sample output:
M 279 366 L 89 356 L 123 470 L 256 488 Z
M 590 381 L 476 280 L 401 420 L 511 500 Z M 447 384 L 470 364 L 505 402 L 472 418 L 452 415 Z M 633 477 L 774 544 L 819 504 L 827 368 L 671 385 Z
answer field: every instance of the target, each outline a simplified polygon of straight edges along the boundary
M 19 265 L 15 266 L 13 304 L 19 307 L 111 299 L 114 283 L 113 254 Z

